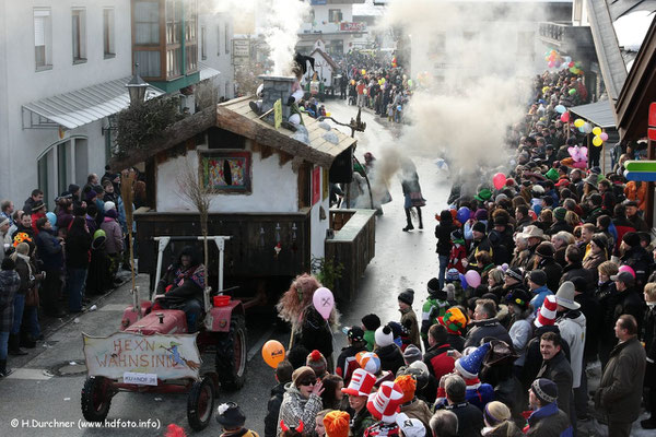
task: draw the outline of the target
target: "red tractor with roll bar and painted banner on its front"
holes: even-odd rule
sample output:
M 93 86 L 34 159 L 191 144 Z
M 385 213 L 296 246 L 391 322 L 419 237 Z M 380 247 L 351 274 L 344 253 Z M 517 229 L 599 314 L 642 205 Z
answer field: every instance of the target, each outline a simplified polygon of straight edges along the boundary
M 208 237 L 219 249 L 219 291 L 204 290 L 204 318 L 199 332 L 188 334 L 183 310 L 152 310 L 155 293 L 152 300 L 140 300 L 139 291 L 134 290 L 133 303 L 124 311 L 119 332 L 104 339 L 84 335 L 89 376 L 81 401 L 85 420 L 104 422 L 112 398 L 119 391 L 186 392 L 189 425 L 200 430 L 212 417 L 218 388 L 242 388 L 246 371 L 245 308 L 241 300 L 225 294 L 232 288 L 223 290 L 225 240 L 230 238 Z M 160 279 L 168 243 L 191 237 L 154 239 L 159 243 Z M 202 366 L 200 355 L 207 359 Z M 208 368 L 211 362 L 213 365 Z

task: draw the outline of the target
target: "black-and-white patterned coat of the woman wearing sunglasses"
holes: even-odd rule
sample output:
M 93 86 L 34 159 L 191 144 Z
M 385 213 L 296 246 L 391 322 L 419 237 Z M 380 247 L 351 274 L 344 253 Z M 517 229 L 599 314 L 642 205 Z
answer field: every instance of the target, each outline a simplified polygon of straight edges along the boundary
M 292 382 L 285 383 L 284 388 L 285 392 L 280 404 L 276 434 L 280 436 L 282 432 L 280 421 L 284 422 L 286 426 L 297 426 L 303 421 L 305 425 L 303 434 L 308 437 L 315 436 L 314 426 L 312 425 L 315 423 L 317 413 L 324 408 L 321 397 L 311 393 L 309 398 L 305 399 Z

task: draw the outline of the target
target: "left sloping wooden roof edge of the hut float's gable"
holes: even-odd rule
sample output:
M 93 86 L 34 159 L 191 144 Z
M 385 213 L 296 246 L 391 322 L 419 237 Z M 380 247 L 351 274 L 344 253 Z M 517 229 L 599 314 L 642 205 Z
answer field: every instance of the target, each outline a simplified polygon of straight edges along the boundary
M 131 167 L 137 163 L 145 162 L 157 152 L 163 152 L 174 145 L 185 143 L 199 132 L 202 132 L 216 123 L 216 107 L 211 106 L 199 113 L 183 118 L 180 121 L 165 129 L 161 135 L 148 144 L 129 152 L 127 156 L 113 157 L 109 165 L 116 169 Z

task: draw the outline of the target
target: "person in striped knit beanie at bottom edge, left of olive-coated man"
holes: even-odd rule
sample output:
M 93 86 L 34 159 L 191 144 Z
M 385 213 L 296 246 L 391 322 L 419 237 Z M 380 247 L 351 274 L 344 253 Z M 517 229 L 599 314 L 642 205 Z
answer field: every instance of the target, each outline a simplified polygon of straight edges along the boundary
M 534 412 L 528 417 L 527 436 L 573 436 L 567 414 L 557 404 L 559 394 L 558 385 L 548 378 L 538 378 L 531 383 L 528 397 Z

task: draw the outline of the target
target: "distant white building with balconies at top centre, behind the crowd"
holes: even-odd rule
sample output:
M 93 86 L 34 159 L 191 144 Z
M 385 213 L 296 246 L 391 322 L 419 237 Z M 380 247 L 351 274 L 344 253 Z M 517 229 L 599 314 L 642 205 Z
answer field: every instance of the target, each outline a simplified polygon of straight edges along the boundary
M 353 48 L 353 42 L 367 32 L 365 22 L 354 22 L 353 4 L 365 0 L 309 0 L 312 11 L 298 29 L 298 51 L 309 54 L 318 38 L 326 43 L 326 51 L 341 57 Z

